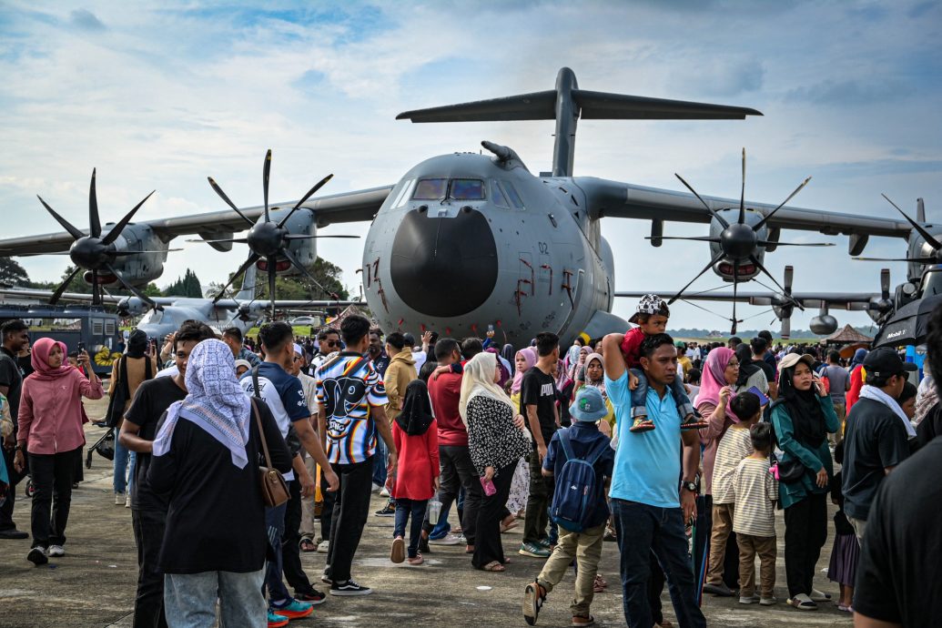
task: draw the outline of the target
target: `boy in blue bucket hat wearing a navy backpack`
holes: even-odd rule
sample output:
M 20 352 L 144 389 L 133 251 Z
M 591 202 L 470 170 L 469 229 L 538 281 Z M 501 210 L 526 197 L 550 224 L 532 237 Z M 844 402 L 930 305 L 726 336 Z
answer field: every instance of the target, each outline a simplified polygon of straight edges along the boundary
M 609 519 L 605 484 L 612 474 L 615 453 L 609 439 L 598 430 L 598 421 L 609 410 L 597 388 L 580 388 L 569 411 L 572 427 L 553 435 L 543 461 L 543 474 L 556 478 L 550 516 L 560 527 L 560 540 L 536 581 L 524 589 L 524 620 L 531 626 L 536 624 L 546 595 L 560 583 L 573 560 L 577 569 L 576 595 L 570 604 L 573 625 L 590 626 L 595 621 L 589 609 Z

